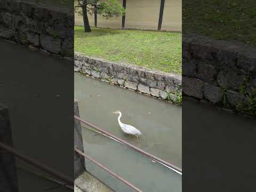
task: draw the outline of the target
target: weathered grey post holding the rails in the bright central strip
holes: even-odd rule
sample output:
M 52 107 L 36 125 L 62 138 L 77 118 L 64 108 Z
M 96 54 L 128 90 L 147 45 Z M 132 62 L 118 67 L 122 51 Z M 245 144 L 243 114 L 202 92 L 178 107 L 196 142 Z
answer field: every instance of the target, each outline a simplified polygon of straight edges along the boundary
M 74 115 L 79 117 L 78 101 L 74 101 Z M 81 122 L 75 119 L 74 122 L 74 146 L 84 151 Z M 84 157 L 74 151 L 74 176 L 75 179 L 85 171 Z

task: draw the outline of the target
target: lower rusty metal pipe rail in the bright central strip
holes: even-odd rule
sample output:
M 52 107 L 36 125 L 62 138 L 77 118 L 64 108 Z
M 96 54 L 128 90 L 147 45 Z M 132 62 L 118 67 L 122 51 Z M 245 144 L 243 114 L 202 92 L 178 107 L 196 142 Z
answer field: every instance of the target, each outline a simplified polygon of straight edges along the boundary
M 96 165 L 98 165 L 99 167 L 101 167 L 101 169 L 107 171 L 108 173 L 110 173 L 111 175 L 113 175 L 115 178 L 119 179 L 120 181 L 122 181 L 125 185 L 127 185 L 128 187 L 131 187 L 132 189 L 134 189 L 137 192 L 142 192 L 142 190 L 138 189 L 137 187 L 135 187 L 134 185 L 132 185 L 129 181 L 126 181 L 125 179 L 123 179 L 122 177 L 120 177 L 118 174 L 110 171 L 107 167 L 103 166 L 102 164 L 100 164 L 99 162 L 97 162 L 95 159 L 85 155 L 81 150 L 75 148 L 75 151 L 82 155 L 83 157 L 89 159 L 91 162 L 95 163 Z

